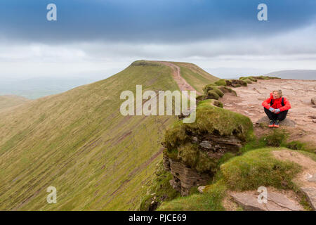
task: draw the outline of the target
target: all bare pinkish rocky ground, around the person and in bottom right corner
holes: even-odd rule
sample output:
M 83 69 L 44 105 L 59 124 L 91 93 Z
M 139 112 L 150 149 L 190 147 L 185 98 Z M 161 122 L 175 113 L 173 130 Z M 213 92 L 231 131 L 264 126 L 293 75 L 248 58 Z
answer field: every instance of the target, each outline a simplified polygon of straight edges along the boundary
M 277 89 L 281 89 L 283 96 L 291 103 L 291 110 L 289 110 L 287 119 L 280 124 L 280 128 L 289 131 L 289 141 L 303 141 L 316 150 L 316 105 L 311 101 L 316 96 L 316 80 L 258 79 L 258 82 L 248 84 L 248 86 L 234 88 L 237 96 L 225 94 L 220 101 L 223 102 L 224 108 L 250 117 L 254 123 L 256 134 L 260 136 L 270 129 L 267 127 L 268 118 L 263 112 L 261 103 L 270 96 L 272 90 Z M 296 162 L 303 167 L 303 172 L 296 178 L 297 183 L 300 184 L 301 191 L 308 196 L 308 200 L 315 210 L 315 161 L 288 150 L 275 152 L 275 157 Z M 302 210 L 295 195 L 290 191 L 280 193 L 270 189 L 268 190 L 270 193 L 268 205 L 257 203 L 258 193 L 255 193 L 256 191 L 230 193 L 230 198 L 226 198 L 226 205 L 232 207 L 234 205 L 232 203 L 237 203 L 244 210 Z

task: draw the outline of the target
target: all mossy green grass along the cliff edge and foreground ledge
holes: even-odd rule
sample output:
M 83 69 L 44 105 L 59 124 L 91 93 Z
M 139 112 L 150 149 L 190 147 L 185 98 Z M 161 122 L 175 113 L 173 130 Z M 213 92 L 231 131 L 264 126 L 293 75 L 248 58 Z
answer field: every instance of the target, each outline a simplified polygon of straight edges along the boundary
M 240 80 L 240 85 L 246 86 L 246 83 L 256 82 L 257 79 L 272 77 L 244 77 Z M 197 172 L 215 174 L 213 181 L 206 186 L 204 193 L 197 193 L 197 187 L 192 187 L 190 195 L 164 201 L 158 210 L 225 210 L 223 198 L 227 195 L 226 191 L 251 191 L 257 190 L 259 186 L 292 190 L 298 195 L 298 200 L 305 210 L 310 210 L 305 197 L 292 181 L 301 172 L 301 166 L 294 162 L 277 160 L 271 152 L 284 148 L 301 150 L 300 153 L 313 160 L 316 160 L 315 154 L 308 153 L 305 143 L 287 142 L 289 134 L 284 129 L 274 129 L 258 139 L 252 132 L 248 117 L 240 117 L 229 110 L 218 108 L 220 105 L 216 105 L 216 102 L 219 102 L 216 99 L 219 95 L 216 90 L 219 89 L 222 94 L 232 92 L 223 82 L 225 79 L 206 85 L 203 89 L 204 95 L 197 97 L 199 102 L 195 123 L 175 122 L 166 131 L 165 136 L 164 154 L 173 160 L 180 160 Z M 213 99 L 204 100 L 210 95 Z M 237 153 L 238 156 L 226 153 L 220 160 L 211 160 L 203 155 L 196 144 L 191 143 L 189 135 L 212 134 L 214 131 L 224 136 L 236 135 L 246 141 Z

